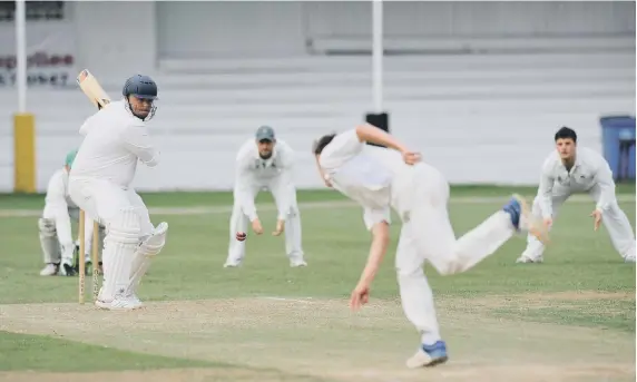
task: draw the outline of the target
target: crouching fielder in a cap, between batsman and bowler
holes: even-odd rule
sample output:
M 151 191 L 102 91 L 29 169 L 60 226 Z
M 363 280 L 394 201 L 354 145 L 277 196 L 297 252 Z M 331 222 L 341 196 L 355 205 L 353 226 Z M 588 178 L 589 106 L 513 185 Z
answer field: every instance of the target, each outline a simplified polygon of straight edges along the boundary
M 255 234 L 263 234 L 254 199 L 262 188 L 272 193 L 278 210 L 276 229 L 278 236 L 285 231 L 285 251 L 290 266 L 306 266 L 301 246 L 301 213 L 296 203 L 293 183 L 294 151 L 283 140 L 277 140 L 274 129 L 262 126 L 255 138 L 246 141 L 236 157 L 234 207 L 231 217 L 231 242 L 224 267 L 238 266 L 245 257 L 245 233 L 248 221 Z

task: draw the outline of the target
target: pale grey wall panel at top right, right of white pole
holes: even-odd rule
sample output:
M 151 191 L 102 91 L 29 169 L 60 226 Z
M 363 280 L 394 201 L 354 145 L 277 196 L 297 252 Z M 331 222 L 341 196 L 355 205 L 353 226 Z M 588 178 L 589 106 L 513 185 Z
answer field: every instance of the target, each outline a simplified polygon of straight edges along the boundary
M 628 1 L 389 2 L 386 32 L 430 37 L 634 33 Z

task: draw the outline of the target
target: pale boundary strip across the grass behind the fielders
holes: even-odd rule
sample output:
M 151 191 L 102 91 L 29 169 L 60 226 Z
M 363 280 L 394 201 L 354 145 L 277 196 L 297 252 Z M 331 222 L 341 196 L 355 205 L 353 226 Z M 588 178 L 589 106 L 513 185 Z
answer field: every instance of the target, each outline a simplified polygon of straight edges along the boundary
M 449 199 L 450 204 L 492 204 L 492 203 L 506 203 L 508 196 L 486 196 L 486 197 L 451 197 Z M 635 195 L 620 194 L 617 195 L 618 202 L 634 203 Z M 568 203 L 590 203 L 594 200 L 588 195 L 574 195 L 568 200 Z M 274 204 L 259 204 L 256 206 L 259 210 L 276 210 Z M 315 208 L 361 208 L 353 202 L 350 200 L 330 200 L 330 202 L 305 202 L 300 203 L 298 207 L 303 209 L 315 209 Z M 229 214 L 233 210 L 232 205 L 223 206 L 193 206 L 193 207 L 150 207 L 149 213 L 151 215 L 207 215 L 207 214 Z M 39 217 L 41 215 L 41 209 L 0 209 L 0 217 Z

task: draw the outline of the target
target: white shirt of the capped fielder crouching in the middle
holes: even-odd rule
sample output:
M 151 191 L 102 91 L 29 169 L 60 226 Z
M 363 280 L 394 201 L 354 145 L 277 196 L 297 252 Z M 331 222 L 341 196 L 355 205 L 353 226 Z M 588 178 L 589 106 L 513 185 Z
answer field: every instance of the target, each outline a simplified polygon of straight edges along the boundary
M 271 187 L 275 195 L 278 218 L 285 219 L 292 207 L 294 150 L 285 141 L 277 139 L 272 156 L 262 159 L 254 139 L 247 140 L 236 156 L 235 198 L 243 213 L 254 221 L 257 217 L 254 205 L 254 189 Z

